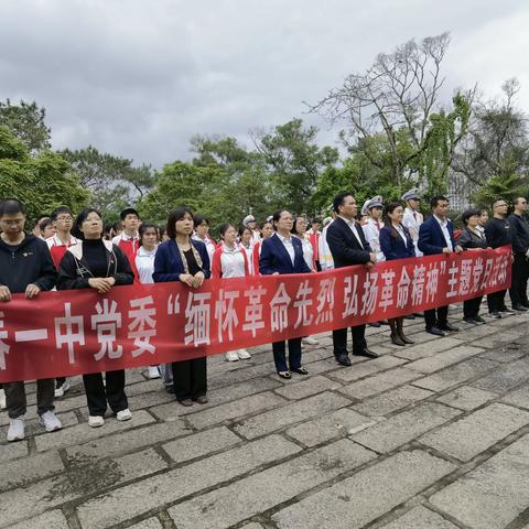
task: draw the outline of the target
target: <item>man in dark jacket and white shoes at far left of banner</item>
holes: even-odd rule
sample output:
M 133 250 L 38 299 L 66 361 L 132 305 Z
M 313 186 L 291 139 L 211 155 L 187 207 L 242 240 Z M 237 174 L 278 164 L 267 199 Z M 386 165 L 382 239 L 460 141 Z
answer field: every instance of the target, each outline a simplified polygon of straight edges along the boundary
M 29 300 L 42 290 L 51 290 L 57 280 L 46 242 L 24 231 L 25 207 L 17 199 L 0 203 L 0 301 L 9 302 L 14 293 L 24 293 Z M 1 305 L 0 305 L 1 309 Z M 23 381 L 3 385 L 10 419 L 8 441 L 24 439 L 25 388 Z M 60 430 L 61 421 L 54 413 L 54 379 L 36 381 L 39 422 L 47 432 Z

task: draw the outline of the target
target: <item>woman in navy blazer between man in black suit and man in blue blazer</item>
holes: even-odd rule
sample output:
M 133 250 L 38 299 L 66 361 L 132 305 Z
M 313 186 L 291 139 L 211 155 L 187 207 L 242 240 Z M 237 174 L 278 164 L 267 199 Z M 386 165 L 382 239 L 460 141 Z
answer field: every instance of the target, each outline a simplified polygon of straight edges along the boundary
M 410 231 L 402 225 L 404 209 L 398 202 L 390 202 L 384 215 L 385 226 L 380 229 L 380 249 L 387 261 L 415 257 Z M 388 320 L 391 328 L 391 343 L 404 346 L 414 342 L 404 334 L 404 316 Z

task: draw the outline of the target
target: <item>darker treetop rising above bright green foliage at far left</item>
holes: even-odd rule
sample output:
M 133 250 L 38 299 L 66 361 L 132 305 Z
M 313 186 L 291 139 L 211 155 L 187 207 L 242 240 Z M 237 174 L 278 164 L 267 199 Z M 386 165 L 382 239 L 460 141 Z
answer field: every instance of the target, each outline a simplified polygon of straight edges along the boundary
M 10 99 L 0 101 L 0 126 L 7 127 L 32 154 L 51 148 L 51 129 L 45 118 L 45 109 L 35 101 L 21 100 L 19 105 L 13 105 Z

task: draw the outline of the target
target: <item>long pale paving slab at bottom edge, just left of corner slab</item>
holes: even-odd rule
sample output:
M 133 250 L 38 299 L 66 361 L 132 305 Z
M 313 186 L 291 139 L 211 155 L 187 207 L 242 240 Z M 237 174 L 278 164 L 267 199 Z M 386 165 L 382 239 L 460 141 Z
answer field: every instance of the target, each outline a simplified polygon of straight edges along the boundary
M 401 452 L 280 510 L 272 519 L 279 529 L 359 529 L 454 468 L 425 452 Z

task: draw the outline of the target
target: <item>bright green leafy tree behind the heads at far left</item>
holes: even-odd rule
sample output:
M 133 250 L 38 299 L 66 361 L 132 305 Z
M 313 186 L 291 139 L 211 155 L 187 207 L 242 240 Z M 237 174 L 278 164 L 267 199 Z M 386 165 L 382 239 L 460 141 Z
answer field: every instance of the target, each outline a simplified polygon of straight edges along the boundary
M 31 220 L 62 205 L 79 210 L 89 201 L 66 160 L 51 151 L 31 156 L 7 127 L 0 127 L 0 196 L 22 201 Z

